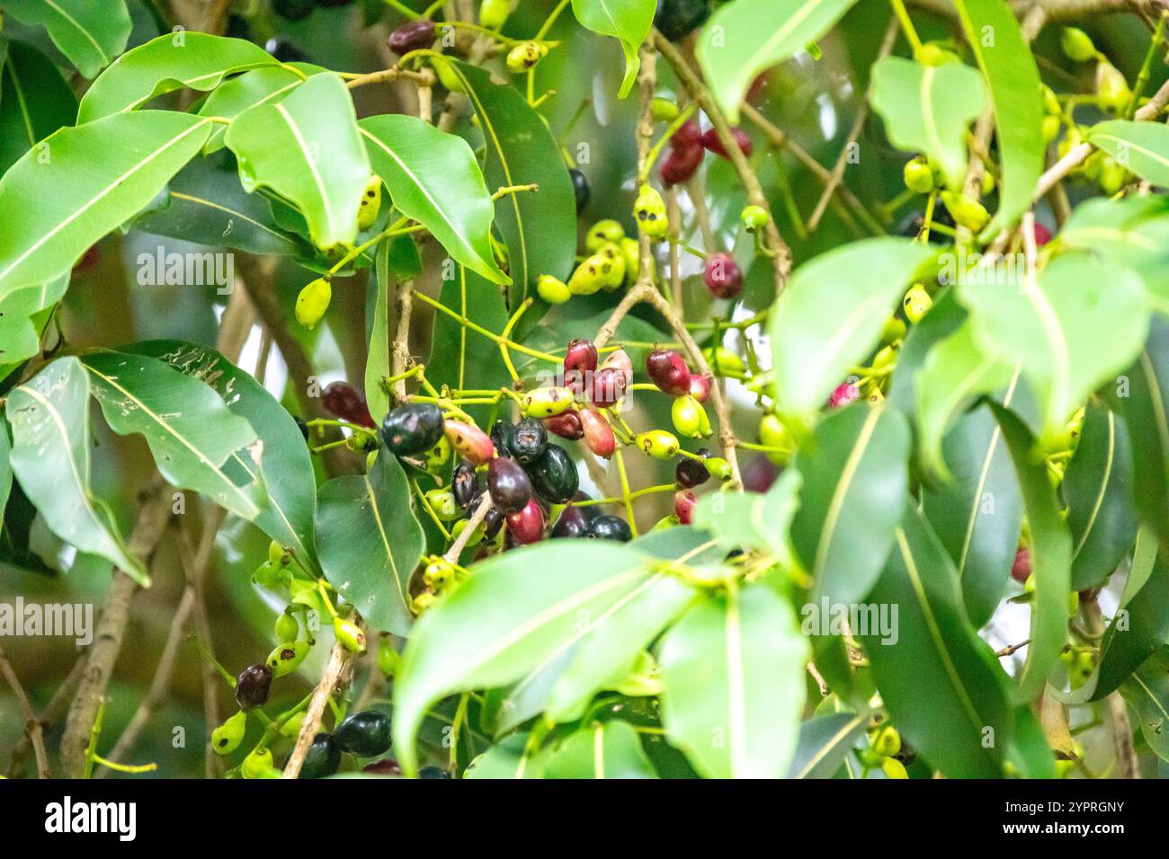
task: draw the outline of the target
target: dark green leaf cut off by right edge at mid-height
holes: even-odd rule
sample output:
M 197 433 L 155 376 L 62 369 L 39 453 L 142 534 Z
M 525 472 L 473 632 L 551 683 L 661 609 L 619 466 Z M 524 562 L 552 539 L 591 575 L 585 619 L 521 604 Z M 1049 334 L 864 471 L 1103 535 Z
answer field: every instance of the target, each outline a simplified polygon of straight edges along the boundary
M 1136 362 L 1109 388 L 1133 443 L 1133 504 L 1169 546 L 1169 324 L 1153 320 Z

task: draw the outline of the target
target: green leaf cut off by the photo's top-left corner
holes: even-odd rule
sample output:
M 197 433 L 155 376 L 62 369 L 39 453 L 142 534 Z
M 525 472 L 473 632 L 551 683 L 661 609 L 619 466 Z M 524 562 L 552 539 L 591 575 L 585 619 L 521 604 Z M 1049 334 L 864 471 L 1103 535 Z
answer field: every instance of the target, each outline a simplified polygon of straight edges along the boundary
M 130 39 L 125 0 L 5 0 L 4 8 L 21 23 L 44 27 L 85 77 L 113 62 Z

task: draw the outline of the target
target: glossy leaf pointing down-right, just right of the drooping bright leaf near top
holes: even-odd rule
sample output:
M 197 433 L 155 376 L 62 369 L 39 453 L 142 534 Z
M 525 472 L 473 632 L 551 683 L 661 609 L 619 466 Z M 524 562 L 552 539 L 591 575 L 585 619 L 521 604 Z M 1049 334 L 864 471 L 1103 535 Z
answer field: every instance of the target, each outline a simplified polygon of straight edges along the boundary
M 359 127 L 397 210 L 426 226 L 455 262 L 511 283 L 491 252 L 494 203 L 466 141 L 401 113 L 367 117 Z

